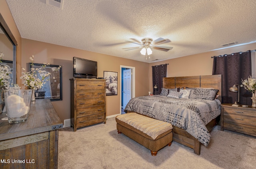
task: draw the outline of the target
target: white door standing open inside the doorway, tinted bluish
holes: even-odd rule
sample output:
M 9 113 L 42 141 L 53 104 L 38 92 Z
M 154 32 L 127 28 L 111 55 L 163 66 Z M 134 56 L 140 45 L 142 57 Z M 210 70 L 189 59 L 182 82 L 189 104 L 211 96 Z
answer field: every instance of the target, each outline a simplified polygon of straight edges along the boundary
M 123 79 L 123 107 L 125 108 L 132 98 L 132 69 L 123 71 Z

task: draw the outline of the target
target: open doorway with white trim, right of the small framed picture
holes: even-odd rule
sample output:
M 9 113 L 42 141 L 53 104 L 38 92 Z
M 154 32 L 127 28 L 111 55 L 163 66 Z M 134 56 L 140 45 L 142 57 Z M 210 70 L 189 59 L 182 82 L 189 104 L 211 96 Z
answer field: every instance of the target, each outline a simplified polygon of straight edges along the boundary
M 124 108 L 131 98 L 135 97 L 135 68 L 130 66 L 120 66 L 121 72 L 121 95 L 120 114 L 125 113 Z

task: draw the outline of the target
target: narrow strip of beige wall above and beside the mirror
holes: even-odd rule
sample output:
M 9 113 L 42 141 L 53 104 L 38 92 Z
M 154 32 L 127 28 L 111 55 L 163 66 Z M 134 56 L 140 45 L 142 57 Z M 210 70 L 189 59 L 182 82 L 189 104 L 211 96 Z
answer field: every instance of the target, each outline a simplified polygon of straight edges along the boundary
M 0 0 L 0 13 L 3 16 L 6 24 L 8 25 L 9 29 L 11 30 L 14 38 L 17 41 L 17 48 L 16 48 L 16 64 L 17 64 L 17 76 L 21 76 L 21 36 L 16 24 L 12 18 L 12 14 L 9 10 L 9 7 L 5 0 Z M 0 50 L 1 51 L 1 50 Z M 21 80 L 17 78 L 17 83 L 21 85 Z

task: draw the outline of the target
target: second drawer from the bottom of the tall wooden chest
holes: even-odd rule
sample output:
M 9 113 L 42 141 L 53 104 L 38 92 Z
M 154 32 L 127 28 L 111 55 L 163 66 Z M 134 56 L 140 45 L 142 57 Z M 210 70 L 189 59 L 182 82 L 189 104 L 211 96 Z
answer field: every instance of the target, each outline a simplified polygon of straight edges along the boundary
M 86 115 L 94 115 L 96 113 L 105 113 L 105 105 L 77 109 L 76 117 L 78 118 Z

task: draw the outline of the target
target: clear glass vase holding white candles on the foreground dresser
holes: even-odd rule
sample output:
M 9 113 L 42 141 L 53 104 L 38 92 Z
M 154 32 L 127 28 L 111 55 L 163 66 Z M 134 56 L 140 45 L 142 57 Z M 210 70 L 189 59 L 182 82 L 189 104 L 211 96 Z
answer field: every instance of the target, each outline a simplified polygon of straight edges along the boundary
M 20 123 L 28 119 L 31 98 L 31 89 L 4 90 L 4 103 L 9 123 Z

